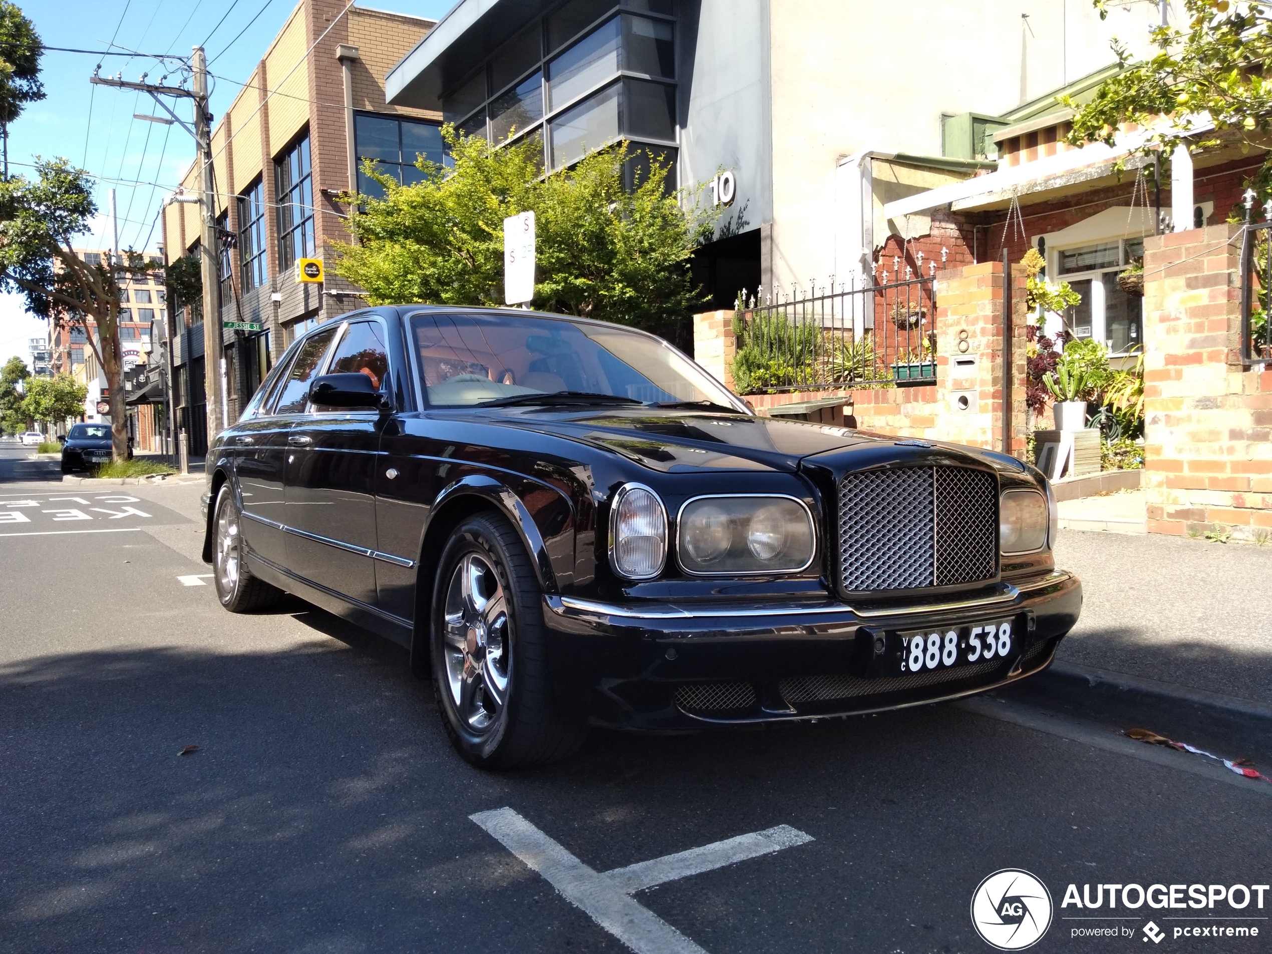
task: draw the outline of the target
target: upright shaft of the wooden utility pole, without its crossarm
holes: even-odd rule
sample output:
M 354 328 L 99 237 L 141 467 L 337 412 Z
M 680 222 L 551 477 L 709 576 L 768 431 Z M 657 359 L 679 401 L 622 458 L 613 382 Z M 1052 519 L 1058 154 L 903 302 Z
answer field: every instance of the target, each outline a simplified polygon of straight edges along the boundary
M 204 391 L 207 401 L 207 445 L 225 426 L 223 411 L 225 406 L 225 343 L 221 337 L 220 282 L 216 280 L 216 256 L 220 254 L 220 242 L 216 240 L 216 195 L 212 181 L 212 130 L 207 121 L 207 57 L 204 47 L 196 46 L 191 56 L 191 69 L 195 71 L 195 144 L 198 149 L 201 190 L 200 212 L 204 215 L 204 238 L 198 243 L 204 276 Z

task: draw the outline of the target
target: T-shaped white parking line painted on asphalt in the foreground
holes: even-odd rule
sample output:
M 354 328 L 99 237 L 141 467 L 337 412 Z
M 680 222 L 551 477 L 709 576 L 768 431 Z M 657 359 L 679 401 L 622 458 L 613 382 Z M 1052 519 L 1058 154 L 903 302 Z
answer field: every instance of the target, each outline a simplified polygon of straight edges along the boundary
M 637 903 L 631 897 L 635 892 L 813 841 L 804 832 L 778 826 L 600 873 L 588 868 L 510 808 L 478 812 L 469 818 L 636 954 L 706 951 Z

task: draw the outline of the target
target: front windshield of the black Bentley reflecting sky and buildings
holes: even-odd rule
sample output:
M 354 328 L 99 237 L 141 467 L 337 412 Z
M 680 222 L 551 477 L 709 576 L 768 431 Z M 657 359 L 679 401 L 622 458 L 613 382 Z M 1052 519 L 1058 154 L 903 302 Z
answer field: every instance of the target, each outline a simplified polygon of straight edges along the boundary
M 460 313 L 416 314 L 411 329 L 432 407 L 557 392 L 738 407 L 678 351 L 617 324 Z

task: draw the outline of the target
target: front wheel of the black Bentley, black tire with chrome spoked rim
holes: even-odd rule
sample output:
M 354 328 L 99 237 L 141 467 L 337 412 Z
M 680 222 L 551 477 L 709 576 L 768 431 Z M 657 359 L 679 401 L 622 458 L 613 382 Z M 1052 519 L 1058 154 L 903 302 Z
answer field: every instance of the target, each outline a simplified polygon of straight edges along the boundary
M 457 607 L 448 607 L 457 599 L 458 622 Z M 443 725 L 480 768 L 555 762 L 586 738 L 583 720 L 563 717 L 553 702 L 542 612 L 538 579 L 511 524 L 492 513 L 460 523 L 438 562 L 429 645 Z

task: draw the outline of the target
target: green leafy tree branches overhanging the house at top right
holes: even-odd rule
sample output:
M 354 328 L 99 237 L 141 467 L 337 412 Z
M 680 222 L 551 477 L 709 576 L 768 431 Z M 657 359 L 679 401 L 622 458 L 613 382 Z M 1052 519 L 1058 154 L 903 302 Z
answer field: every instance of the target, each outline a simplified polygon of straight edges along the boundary
M 1107 0 L 1094 0 L 1100 18 Z M 1180 25 L 1154 29 L 1156 52 L 1132 62 L 1127 50 L 1113 45 L 1122 70 L 1107 79 L 1089 103 L 1067 97 L 1075 111 L 1070 142 L 1113 145 L 1130 123 L 1150 130 L 1145 151 L 1169 154 L 1192 131 L 1193 117 L 1208 114 L 1216 136 L 1193 142 L 1215 145 L 1217 136 L 1238 136 L 1249 149 L 1272 148 L 1272 5 L 1231 0 L 1183 0 Z M 1248 182 L 1259 202 L 1272 197 L 1272 164 Z

